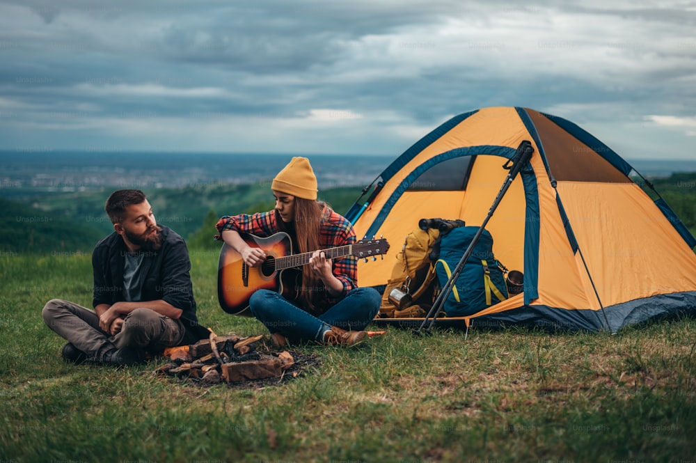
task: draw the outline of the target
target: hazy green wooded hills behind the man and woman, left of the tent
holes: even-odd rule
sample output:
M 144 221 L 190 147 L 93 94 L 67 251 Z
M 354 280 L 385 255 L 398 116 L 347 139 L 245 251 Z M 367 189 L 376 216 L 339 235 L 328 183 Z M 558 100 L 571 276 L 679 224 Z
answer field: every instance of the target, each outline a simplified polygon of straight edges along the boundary
M 212 216 L 260 212 L 274 207 L 269 185 L 258 182 L 208 183 L 143 191 L 152 204 L 157 223 L 173 228 L 187 240 L 197 233 L 196 243 L 205 246 L 219 246 L 212 242 L 217 221 Z M 33 196 L 31 205 L 0 198 L 0 251 L 91 251 L 101 237 L 113 231 L 104 212 L 109 193 L 56 192 Z M 335 210 L 345 213 L 359 193 L 356 187 L 344 187 L 321 191 L 319 195 Z

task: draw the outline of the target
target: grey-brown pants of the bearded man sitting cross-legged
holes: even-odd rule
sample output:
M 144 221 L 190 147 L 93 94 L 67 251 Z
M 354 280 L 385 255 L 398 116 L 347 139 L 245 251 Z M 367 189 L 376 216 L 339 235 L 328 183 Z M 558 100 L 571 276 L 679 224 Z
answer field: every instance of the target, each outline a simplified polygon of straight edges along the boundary
M 95 311 L 70 301 L 51 299 L 44 306 L 42 316 L 50 329 L 94 361 L 103 361 L 107 352 L 121 347 L 161 352 L 166 347 L 180 345 L 184 339 L 182 322 L 149 308 L 136 308 L 129 313 L 116 336 L 100 328 Z

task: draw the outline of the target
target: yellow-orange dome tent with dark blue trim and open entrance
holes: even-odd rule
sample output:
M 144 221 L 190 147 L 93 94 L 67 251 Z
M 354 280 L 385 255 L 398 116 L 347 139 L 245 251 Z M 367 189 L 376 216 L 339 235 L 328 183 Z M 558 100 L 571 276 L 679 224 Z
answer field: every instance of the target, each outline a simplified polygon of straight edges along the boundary
M 658 194 L 653 201 L 633 182 L 633 168 L 616 152 L 532 109 L 479 109 L 443 123 L 397 157 L 346 216 L 358 236 L 385 237 L 395 251 L 422 218 L 480 226 L 507 176 L 503 164 L 525 140 L 534 148 L 530 162 L 486 226 L 496 258 L 523 272 L 523 293 L 438 324 L 615 332 L 696 311 L 696 239 L 688 228 Z M 358 264 L 360 285 L 385 285 L 396 253 Z

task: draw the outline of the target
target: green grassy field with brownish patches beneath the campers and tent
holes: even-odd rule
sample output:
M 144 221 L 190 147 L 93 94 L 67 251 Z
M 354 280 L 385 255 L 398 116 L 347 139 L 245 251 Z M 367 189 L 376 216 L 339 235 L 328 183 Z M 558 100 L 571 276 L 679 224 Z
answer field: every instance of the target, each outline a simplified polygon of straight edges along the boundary
M 191 251 L 204 324 L 264 333 L 216 301 L 215 251 Z M 86 255 L 1 256 L 0 462 L 674 462 L 696 458 L 696 322 L 607 334 L 385 335 L 262 389 L 63 363 L 52 297 L 90 305 Z M 689 437 L 691 436 L 691 437 Z

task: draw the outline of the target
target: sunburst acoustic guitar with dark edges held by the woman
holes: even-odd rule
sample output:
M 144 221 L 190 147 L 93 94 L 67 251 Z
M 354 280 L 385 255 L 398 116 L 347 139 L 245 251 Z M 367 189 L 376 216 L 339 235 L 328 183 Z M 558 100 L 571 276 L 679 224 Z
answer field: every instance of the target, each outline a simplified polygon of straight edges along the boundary
M 261 248 L 266 260 L 257 267 L 249 267 L 242 255 L 225 243 L 218 263 L 218 300 L 223 311 L 232 315 L 253 317 L 249 299 L 256 290 L 278 292 L 287 299 L 296 299 L 301 288 L 301 267 L 309 263 L 312 252 L 292 253 L 290 235 L 279 232 L 267 238 L 242 234 L 249 246 Z M 354 244 L 322 249 L 327 259 L 355 256 L 359 259 L 377 258 L 386 254 L 386 240 L 360 240 Z

